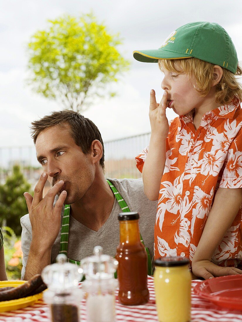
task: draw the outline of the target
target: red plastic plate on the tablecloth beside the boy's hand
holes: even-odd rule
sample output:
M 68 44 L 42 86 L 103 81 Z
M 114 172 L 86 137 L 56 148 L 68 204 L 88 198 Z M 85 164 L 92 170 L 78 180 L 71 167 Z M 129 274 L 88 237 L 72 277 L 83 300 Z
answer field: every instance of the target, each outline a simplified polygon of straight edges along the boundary
M 195 286 L 194 293 L 224 308 L 242 310 L 242 275 L 206 279 Z

